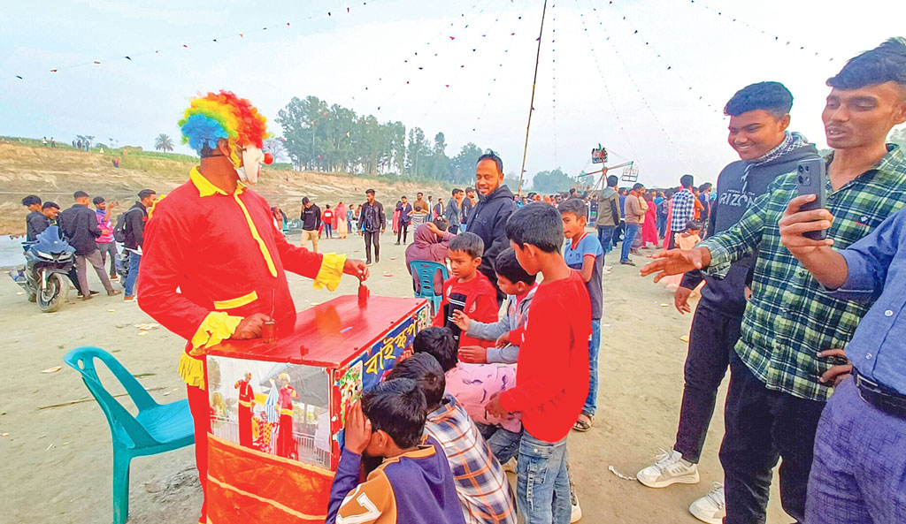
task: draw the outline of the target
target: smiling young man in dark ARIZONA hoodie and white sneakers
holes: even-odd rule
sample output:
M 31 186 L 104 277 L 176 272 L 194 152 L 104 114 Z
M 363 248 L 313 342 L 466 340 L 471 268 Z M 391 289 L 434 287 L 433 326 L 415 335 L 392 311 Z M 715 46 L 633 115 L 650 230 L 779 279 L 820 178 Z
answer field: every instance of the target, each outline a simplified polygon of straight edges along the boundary
M 718 197 L 708 216 L 708 234 L 736 224 L 777 176 L 795 171 L 803 158 L 817 156 L 813 144 L 798 133 L 786 131 L 792 107 L 793 95 L 773 81 L 749 85 L 727 102 L 728 141 L 741 159 L 724 167 L 718 176 Z M 639 481 L 646 486 L 663 488 L 699 480 L 696 464 L 714 413 L 718 386 L 739 338 L 755 258 L 734 262 L 723 280 L 698 271 L 686 273 L 676 291 L 676 309 L 687 313 L 692 290 L 707 281 L 692 319 L 677 440 L 670 455 L 639 472 Z M 693 502 L 689 510 L 699 519 L 719 521 L 723 499 L 723 488 L 719 488 Z

